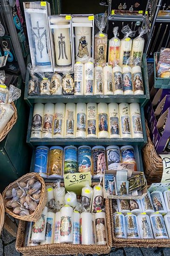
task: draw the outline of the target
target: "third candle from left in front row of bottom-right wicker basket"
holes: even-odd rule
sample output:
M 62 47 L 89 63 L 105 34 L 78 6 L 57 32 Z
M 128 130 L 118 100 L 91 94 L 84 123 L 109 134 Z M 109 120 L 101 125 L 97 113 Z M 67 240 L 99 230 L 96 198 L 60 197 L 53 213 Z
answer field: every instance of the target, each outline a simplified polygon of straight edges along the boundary
M 138 226 L 140 227 L 141 239 L 153 239 L 152 228 L 150 224 L 150 217 L 146 213 L 137 216 Z

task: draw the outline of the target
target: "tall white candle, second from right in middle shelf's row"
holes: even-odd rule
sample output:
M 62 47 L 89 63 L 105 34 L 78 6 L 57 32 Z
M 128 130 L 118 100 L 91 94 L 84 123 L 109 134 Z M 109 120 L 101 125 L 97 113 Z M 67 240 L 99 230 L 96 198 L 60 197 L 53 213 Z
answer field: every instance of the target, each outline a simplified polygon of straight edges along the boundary
M 128 103 L 120 103 L 118 105 L 119 110 L 119 128 L 121 138 L 131 138 L 131 120 Z

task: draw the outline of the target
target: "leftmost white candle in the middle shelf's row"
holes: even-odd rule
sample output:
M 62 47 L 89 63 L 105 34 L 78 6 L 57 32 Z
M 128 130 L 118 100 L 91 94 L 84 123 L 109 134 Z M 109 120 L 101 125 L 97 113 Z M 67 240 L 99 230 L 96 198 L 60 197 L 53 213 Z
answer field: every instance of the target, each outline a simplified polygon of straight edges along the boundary
M 44 116 L 44 104 L 36 103 L 33 108 L 33 121 L 31 128 L 31 139 L 41 139 Z

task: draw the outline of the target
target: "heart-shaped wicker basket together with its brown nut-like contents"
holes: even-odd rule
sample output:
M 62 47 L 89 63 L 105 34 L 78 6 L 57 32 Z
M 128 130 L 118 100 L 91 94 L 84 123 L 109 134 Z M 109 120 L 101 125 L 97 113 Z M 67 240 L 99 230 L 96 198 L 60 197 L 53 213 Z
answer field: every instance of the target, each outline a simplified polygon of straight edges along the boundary
M 2 193 L 5 212 L 16 219 L 37 221 L 46 205 L 46 186 L 43 178 L 28 173 L 9 184 Z

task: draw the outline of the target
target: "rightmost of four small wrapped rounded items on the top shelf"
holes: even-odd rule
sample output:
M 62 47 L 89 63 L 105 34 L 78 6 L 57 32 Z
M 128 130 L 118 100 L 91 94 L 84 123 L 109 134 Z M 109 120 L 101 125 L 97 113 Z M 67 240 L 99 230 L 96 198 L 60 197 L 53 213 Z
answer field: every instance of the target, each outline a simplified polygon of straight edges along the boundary
M 63 95 L 74 94 L 74 81 L 70 74 L 65 74 L 62 81 Z

